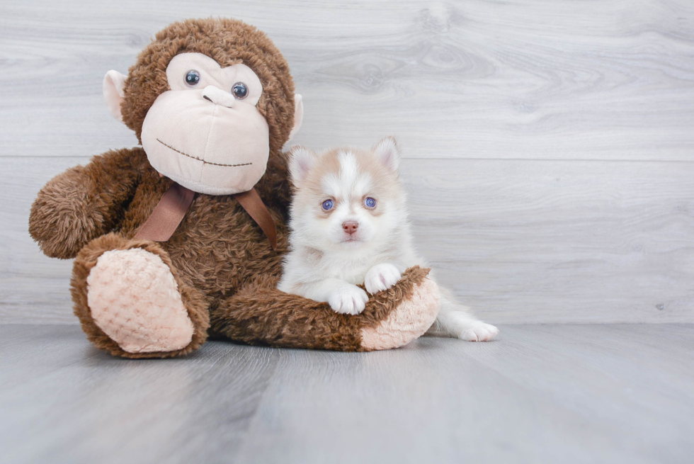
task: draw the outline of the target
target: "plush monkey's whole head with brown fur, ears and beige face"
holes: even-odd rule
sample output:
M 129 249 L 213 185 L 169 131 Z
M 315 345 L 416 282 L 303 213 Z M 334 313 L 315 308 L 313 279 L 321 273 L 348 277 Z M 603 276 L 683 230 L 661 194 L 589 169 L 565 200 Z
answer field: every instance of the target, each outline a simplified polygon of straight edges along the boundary
M 103 79 L 106 106 L 135 131 L 154 169 L 210 195 L 249 191 L 270 157 L 281 163 L 303 116 L 293 92 L 277 47 L 230 18 L 173 23 L 130 76 L 111 70 Z

